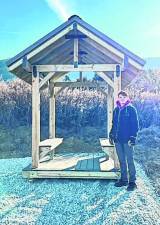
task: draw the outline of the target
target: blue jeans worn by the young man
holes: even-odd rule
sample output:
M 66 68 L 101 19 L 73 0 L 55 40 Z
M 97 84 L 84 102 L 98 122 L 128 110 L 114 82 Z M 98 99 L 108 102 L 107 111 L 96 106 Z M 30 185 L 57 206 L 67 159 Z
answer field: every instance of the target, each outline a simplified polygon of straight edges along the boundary
M 129 182 L 135 182 L 136 180 L 136 170 L 133 160 L 133 146 L 129 146 L 127 143 L 115 143 L 116 152 L 118 155 L 120 169 L 121 169 L 121 180 Z M 128 173 L 127 173 L 128 166 Z

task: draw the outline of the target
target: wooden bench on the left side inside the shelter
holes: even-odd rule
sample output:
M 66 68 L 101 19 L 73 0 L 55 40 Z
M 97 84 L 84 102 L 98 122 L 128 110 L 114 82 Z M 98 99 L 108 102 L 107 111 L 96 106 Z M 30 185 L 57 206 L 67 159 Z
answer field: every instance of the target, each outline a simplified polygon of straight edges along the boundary
M 45 162 L 53 159 L 55 149 L 63 141 L 63 138 L 46 139 L 39 143 L 39 162 Z

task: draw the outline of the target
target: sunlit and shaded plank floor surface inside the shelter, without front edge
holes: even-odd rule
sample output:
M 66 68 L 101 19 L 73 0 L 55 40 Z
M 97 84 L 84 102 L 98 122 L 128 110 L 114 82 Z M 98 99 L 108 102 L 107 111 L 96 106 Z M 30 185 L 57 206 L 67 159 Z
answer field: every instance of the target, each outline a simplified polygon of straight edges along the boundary
M 53 160 L 39 163 L 37 170 L 110 171 L 114 162 L 104 152 L 56 154 Z

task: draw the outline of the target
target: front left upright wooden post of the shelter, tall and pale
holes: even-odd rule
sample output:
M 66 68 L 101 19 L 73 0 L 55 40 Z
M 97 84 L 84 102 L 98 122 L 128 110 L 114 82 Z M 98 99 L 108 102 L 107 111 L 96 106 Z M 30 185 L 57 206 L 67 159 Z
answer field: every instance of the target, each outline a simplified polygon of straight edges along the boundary
M 39 72 L 32 69 L 32 168 L 38 167 L 40 143 L 40 92 Z

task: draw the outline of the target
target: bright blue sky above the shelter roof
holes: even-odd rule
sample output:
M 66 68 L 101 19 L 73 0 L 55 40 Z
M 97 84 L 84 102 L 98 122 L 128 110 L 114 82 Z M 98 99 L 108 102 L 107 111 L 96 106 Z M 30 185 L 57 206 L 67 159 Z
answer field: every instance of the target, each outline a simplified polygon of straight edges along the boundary
M 71 15 L 142 58 L 160 57 L 160 0 L 0 0 L 0 59 L 8 59 Z

